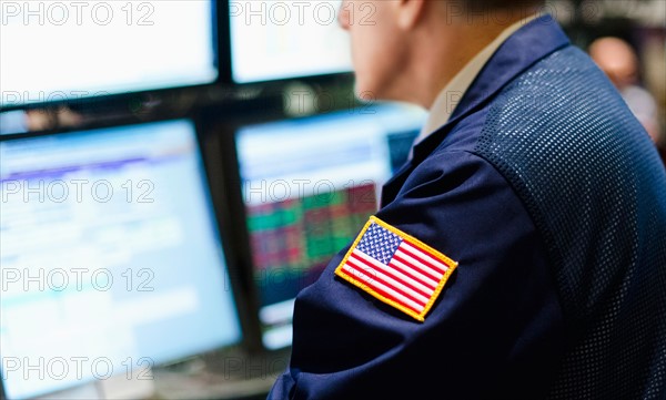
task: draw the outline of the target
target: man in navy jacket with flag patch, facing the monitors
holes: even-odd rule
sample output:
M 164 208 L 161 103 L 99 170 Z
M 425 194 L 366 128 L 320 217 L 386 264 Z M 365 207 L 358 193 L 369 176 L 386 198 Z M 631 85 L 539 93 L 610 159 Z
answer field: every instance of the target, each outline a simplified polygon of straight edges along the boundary
M 357 91 L 431 117 L 299 295 L 269 398 L 666 396 L 666 173 L 604 73 L 515 3 L 343 2 Z

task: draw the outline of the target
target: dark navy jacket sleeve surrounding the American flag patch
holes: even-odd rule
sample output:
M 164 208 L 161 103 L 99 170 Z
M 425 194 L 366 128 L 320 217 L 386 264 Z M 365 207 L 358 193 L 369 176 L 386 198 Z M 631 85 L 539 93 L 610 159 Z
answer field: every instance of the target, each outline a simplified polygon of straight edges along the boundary
M 270 399 L 539 398 L 563 348 L 542 238 L 502 175 L 431 155 L 377 217 L 458 263 L 418 322 L 349 283 L 334 257 L 296 299 L 287 370 Z

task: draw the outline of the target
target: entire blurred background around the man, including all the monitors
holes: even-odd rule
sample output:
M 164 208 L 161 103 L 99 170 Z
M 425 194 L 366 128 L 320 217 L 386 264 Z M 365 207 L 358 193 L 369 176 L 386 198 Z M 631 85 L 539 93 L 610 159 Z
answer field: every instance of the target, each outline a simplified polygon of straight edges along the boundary
M 2 399 L 265 397 L 426 119 L 354 95 L 340 6 L 0 1 Z M 664 154 L 666 2 L 543 12 Z

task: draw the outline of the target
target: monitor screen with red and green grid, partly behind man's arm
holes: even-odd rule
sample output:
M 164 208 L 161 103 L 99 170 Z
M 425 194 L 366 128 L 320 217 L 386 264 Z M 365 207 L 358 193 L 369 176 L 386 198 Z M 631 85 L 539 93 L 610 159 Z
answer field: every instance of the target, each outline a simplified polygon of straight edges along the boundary
M 265 348 L 291 345 L 296 294 L 361 230 L 425 112 L 384 104 L 236 132 Z

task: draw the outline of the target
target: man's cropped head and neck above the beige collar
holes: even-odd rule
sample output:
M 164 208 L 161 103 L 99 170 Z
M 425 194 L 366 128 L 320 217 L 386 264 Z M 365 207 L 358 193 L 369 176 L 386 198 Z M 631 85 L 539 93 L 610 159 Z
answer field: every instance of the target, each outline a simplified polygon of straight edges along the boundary
M 363 99 L 430 107 L 453 76 L 504 29 L 543 0 L 344 0 Z

